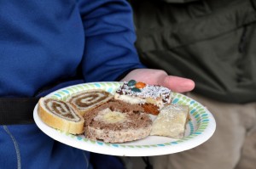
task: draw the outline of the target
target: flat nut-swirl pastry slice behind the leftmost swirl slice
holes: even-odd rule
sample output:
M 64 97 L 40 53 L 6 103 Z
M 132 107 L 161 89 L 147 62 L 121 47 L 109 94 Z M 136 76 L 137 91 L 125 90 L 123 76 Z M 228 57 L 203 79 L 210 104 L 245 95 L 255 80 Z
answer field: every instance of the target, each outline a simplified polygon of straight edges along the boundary
M 74 93 L 67 102 L 73 106 L 73 109 L 79 111 L 80 115 L 84 115 L 97 106 L 113 99 L 113 94 L 101 89 L 91 89 L 79 93 Z

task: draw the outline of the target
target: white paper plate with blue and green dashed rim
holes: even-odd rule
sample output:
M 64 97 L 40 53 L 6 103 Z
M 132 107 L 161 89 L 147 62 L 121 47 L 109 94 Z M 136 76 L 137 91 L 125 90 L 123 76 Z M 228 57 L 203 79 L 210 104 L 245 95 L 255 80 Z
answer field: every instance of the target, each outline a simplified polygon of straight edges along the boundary
M 95 88 L 104 89 L 109 93 L 114 93 L 121 84 L 122 83 L 120 82 L 84 83 L 62 88 L 54 93 L 50 93 L 47 97 L 65 101 L 73 93 Z M 33 117 L 38 127 L 50 138 L 54 138 L 63 144 L 67 144 L 78 149 L 84 149 L 105 155 L 167 155 L 192 149 L 206 142 L 207 139 L 212 137 L 216 128 L 216 123 L 212 114 L 200 103 L 180 93 L 172 93 L 172 97 L 172 103 L 189 105 L 191 120 L 187 124 L 185 137 L 182 139 L 148 136 L 147 138 L 125 144 L 106 144 L 102 141 L 92 141 L 84 138 L 84 135 L 72 135 L 47 126 L 38 116 L 38 104 L 34 109 Z

